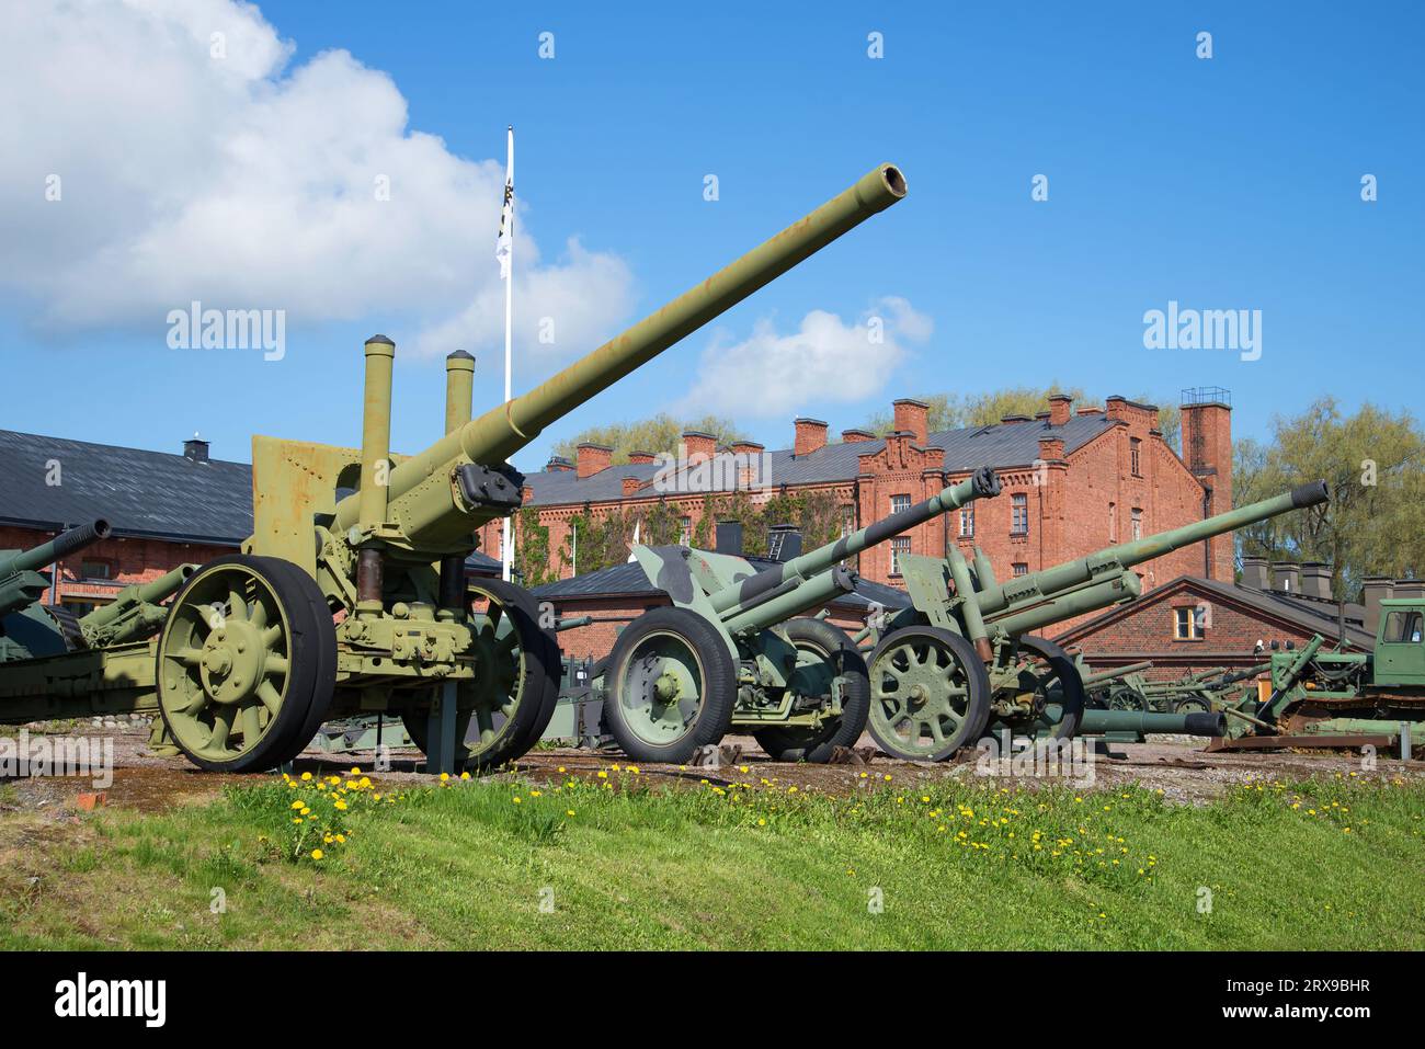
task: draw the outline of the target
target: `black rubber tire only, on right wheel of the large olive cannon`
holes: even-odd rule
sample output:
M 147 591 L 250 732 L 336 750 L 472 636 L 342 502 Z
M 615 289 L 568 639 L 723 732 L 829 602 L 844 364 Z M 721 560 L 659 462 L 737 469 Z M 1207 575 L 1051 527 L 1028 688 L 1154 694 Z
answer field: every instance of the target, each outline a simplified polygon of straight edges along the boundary
M 537 703 L 533 704 L 522 700 L 514 708 L 514 717 L 510 718 L 514 723 L 510 731 L 503 734 L 494 747 L 477 758 L 472 758 L 467 750 L 465 751 L 465 757 L 462 757 L 460 748 L 465 747 L 465 740 L 456 744 L 456 764 L 472 772 L 483 772 L 524 757 L 530 747 L 544 734 L 550 718 L 554 717 L 554 707 L 559 703 L 559 688 L 564 677 L 564 667 L 560 661 L 559 644 L 554 641 L 553 634 L 539 626 L 539 601 L 534 600 L 529 590 L 517 587 L 513 583 L 506 583 L 502 579 L 482 579 L 479 583 L 470 584 L 470 589 L 484 590 L 504 606 L 506 614 L 509 614 L 510 621 L 520 634 L 520 647 L 526 653 L 526 696 L 537 698 Z M 469 594 L 470 590 L 466 593 Z M 406 735 L 410 737 L 410 741 L 423 754 L 429 754 L 426 750 L 429 743 L 426 734 L 429 717 L 429 704 L 418 704 L 400 714 L 400 720 L 406 727 Z M 466 730 L 469 731 L 469 721 L 466 721 Z

